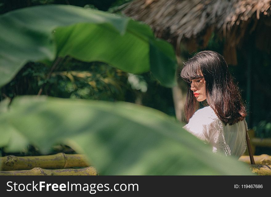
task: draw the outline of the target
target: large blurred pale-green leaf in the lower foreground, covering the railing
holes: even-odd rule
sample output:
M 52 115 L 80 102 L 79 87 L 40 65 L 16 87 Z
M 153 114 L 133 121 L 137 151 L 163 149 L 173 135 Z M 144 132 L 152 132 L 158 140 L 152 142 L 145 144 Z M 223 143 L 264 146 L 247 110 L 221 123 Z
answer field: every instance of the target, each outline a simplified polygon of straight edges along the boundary
M 5 117 L 44 153 L 67 144 L 100 175 L 252 175 L 247 164 L 212 153 L 183 124 L 132 103 L 23 96 Z

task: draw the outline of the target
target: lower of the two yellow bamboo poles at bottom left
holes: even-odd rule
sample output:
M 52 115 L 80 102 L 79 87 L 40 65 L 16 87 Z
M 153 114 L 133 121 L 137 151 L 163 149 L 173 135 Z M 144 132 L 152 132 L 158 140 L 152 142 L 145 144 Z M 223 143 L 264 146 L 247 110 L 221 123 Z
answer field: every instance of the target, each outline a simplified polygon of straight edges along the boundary
M 98 173 L 94 167 L 60 170 L 47 170 L 34 167 L 31 170 L 0 171 L 0 175 L 98 175 Z

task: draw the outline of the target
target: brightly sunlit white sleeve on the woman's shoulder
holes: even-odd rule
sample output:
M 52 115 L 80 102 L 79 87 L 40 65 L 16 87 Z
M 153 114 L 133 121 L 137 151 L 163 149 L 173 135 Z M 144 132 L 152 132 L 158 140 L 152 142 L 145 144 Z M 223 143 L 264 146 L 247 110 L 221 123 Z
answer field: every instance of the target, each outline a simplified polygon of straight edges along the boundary
M 215 133 L 215 121 L 203 112 L 197 111 L 183 128 L 205 143 L 209 143 Z

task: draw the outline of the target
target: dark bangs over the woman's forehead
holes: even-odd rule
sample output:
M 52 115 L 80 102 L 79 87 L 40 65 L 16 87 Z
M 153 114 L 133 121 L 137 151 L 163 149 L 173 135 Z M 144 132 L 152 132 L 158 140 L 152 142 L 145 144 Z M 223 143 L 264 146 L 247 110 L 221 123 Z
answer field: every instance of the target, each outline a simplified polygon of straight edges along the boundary
M 189 79 L 199 79 L 199 78 L 204 78 L 202 75 L 200 69 L 200 64 L 193 60 L 189 59 L 188 62 L 184 63 L 184 67 L 181 71 L 181 78 L 184 79 L 184 81 L 189 83 Z

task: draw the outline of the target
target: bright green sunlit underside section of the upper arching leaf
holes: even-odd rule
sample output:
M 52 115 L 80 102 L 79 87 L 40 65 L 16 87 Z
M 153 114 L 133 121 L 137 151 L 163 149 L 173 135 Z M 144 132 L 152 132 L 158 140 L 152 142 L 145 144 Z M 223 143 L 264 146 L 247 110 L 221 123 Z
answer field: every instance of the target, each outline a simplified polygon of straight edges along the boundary
M 131 73 L 150 70 L 149 43 L 128 32 L 121 35 L 110 24 L 61 27 L 56 29 L 55 38 L 61 46 L 60 57 L 70 55 L 85 62 L 106 62 Z

